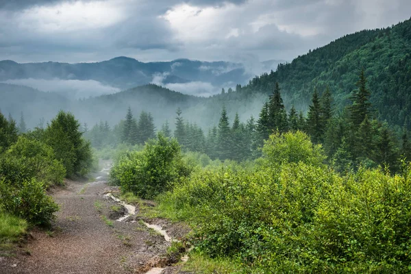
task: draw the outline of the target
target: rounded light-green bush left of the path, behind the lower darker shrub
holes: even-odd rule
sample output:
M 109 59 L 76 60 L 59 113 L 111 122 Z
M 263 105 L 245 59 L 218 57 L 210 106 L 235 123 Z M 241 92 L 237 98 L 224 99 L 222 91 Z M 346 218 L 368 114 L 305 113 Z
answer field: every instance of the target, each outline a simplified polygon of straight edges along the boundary
M 6 151 L 5 157 L 9 160 L 14 158 L 21 165 L 24 164 L 25 168 L 20 172 L 27 171 L 25 178 L 36 177 L 47 186 L 62 184 L 66 175 L 64 166 L 55 160 L 53 149 L 38 140 L 19 136 L 17 142 Z M 0 173 L 10 176 L 9 171 Z

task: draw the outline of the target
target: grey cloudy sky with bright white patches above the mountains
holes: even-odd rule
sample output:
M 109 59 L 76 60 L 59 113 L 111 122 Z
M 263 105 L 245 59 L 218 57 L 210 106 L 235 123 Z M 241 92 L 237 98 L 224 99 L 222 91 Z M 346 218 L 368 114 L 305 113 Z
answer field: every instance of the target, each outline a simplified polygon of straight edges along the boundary
M 410 0 L 0 0 L 0 60 L 292 60 L 410 11 Z

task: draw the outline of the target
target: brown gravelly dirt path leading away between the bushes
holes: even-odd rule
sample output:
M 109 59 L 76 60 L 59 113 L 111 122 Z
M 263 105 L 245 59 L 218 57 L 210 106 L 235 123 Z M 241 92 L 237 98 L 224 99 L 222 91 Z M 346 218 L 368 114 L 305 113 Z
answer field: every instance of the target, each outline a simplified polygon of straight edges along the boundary
M 0 273 L 145 273 L 157 266 L 169 245 L 164 237 L 139 222 L 110 221 L 118 206 L 103 195 L 109 164 L 97 182 L 56 190 L 61 208 L 53 231 L 34 230 L 16 258 L 0 258 Z

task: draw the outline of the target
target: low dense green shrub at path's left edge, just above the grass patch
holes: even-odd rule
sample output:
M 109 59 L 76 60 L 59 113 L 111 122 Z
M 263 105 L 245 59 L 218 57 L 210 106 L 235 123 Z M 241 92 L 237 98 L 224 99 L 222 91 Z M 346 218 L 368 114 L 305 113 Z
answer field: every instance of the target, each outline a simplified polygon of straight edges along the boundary
M 0 179 L 0 208 L 33 224 L 49 223 L 58 211 L 45 186 L 34 178 L 19 182 Z

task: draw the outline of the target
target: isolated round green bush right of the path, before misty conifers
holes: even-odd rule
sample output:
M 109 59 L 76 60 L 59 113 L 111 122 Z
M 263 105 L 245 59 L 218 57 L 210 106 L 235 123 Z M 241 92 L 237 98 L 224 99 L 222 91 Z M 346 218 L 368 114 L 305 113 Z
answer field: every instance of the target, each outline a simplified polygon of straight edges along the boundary
M 158 139 L 149 140 L 142 151 L 127 153 L 119 159 L 110 172 L 110 183 L 121 186 L 124 192 L 150 199 L 189 173 L 177 140 L 158 134 Z

